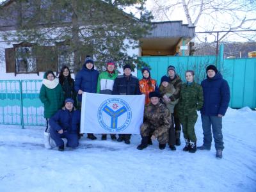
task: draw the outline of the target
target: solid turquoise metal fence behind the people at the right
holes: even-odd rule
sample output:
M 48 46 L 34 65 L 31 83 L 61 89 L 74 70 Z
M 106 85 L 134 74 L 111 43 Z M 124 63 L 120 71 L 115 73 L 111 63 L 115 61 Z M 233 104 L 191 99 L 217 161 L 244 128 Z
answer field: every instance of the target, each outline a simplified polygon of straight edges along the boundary
M 222 58 L 222 57 L 221 57 Z M 161 77 L 167 74 L 168 65 L 174 65 L 177 74 L 184 80 L 185 71 L 195 70 L 196 82 L 200 83 L 206 77 L 205 68 L 210 64 L 217 64 L 218 70 L 230 86 L 231 108 L 248 106 L 256 108 L 256 58 L 220 59 L 216 56 L 143 56 L 151 67 L 151 76 L 160 83 Z M 138 71 L 138 78 L 142 74 Z

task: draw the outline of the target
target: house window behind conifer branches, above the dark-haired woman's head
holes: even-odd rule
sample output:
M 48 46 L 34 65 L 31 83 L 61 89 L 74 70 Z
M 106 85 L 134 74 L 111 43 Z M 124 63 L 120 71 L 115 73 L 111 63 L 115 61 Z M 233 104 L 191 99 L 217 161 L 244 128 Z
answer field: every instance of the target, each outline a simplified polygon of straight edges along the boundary
M 70 51 L 68 45 L 58 45 L 58 71 L 66 65 L 70 72 L 74 72 L 74 52 Z

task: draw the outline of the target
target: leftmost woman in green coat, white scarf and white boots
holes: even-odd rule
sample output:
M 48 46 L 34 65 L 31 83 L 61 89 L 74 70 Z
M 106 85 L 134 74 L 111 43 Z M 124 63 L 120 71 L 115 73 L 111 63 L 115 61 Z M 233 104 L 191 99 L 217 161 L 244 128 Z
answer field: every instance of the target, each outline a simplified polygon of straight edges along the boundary
M 52 148 L 50 145 L 49 118 L 51 118 L 63 105 L 63 90 L 59 79 L 54 76 L 51 70 L 44 74 L 44 79 L 40 89 L 39 98 L 44 104 L 44 118 L 46 118 L 46 129 L 44 132 L 45 148 Z

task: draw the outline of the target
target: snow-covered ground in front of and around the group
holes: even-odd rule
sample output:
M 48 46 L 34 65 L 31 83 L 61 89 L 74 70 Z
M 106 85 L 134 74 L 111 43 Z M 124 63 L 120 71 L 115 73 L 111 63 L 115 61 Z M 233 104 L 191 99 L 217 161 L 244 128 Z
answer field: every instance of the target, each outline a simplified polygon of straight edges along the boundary
M 256 111 L 228 109 L 223 159 L 211 151 L 159 150 L 82 138 L 76 150 L 47 150 L 44 127 L 0 125 L 0 191 L 256 191 Z M 196 123 L 198 146 L 203 134 Z

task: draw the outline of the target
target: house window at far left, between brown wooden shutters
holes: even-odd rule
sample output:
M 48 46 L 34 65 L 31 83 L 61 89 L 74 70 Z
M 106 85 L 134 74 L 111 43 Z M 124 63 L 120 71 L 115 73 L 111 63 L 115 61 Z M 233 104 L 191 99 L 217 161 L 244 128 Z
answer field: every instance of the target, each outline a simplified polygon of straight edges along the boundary
M 16 72 L 36 72 L 36 57 L 33 55 L 33 47 L 15 48 Z

